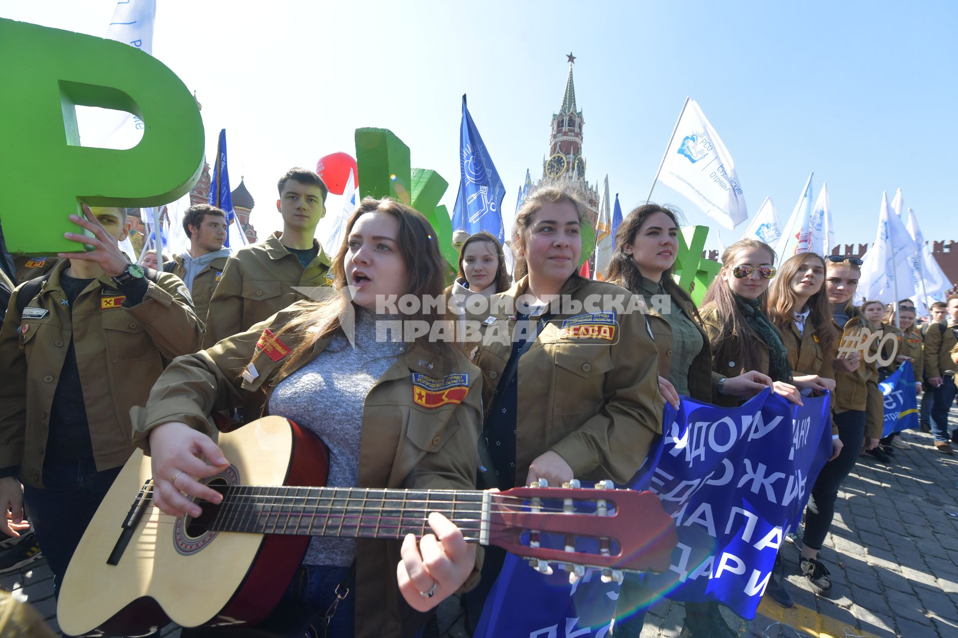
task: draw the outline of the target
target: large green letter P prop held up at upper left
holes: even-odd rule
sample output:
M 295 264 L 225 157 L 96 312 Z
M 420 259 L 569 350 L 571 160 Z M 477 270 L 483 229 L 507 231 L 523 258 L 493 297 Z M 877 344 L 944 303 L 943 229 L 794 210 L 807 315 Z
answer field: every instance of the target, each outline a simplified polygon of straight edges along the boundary
M 0 222 L 11 253 L 77 252 L 63 237 L 80 201 L 160 206 L 190 191 L 203 122 L 190 91 L 159 60 L 113 40 L 0 18 Z M 127 111 L 143 140 L 80 146 L 76 105 Z

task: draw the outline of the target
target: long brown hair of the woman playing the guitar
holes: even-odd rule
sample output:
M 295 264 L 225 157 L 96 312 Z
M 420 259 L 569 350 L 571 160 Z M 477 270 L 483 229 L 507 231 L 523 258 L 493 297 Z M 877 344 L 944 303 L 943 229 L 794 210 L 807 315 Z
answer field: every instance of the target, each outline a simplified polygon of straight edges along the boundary
M 340 317 L 348 311 L 348 305 L 352 303 L 347 294 L 346 269 L 343 266 L 346 252 L 349 250 L 350 232 L 353 231 L 356 221 L 361 216 L 374 212 L 392 215 L 399 222 L 396 246 L 402 256 L 402 261 L 405 263 L 406 276 L 409 279 L 406 294 L 415 295 L 421 300 L 427 297 L 440 298 L 443 295 L 445 288 L 444 259 L 436 245 L 436 231 L 433 230 L 432 225 L 417 210 L 395 199 L 365 197 L 359 202 L 359 206 L 355 209 L 353 216 L 350 217 L 350 221 L 346 225 L 343 243 L 332 262 L 332 287 L 339 294 L 335 295 L 332 300 L 310 303 L 308 308 L 290 319 L 279 332 L 279 335 L 286 332 L 306 333 L 292 349 L 289 357 L 286 358 L 285 363 L 280 368 L 281 373 L 300 356 L 308 353 L 316 341 L 331 335 L 339 328 Z M 439 306 L 442 306 L 442 304 L 439 304 Z M 443 307 L 437 309 L 436 304 L 423 303 L 418 312 L 408 315 L 402 314 L 401 308 L 402 304 L 399 304 L 400 319 L 428 321 L 430 327 L 436 321 L 445 318 L 445 309 Z M 429 341 L 429 333 L 417 337 L 416 343 L 431 351 L 437 358 L 451 358 L 452 345 L 447 341 Z

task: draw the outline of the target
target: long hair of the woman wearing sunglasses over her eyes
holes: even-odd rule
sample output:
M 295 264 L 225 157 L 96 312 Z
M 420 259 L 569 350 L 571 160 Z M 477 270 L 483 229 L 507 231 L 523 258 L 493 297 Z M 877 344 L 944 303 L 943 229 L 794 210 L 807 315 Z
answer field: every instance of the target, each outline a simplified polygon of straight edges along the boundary
M 721 267 L 731 269 L 736 258 L 745 251 L 761 249 L 767 251 L 771 257 L 768 263 L 775 261 L 775 251 L 768 244 L 745 237 L 735 242 L 721 253 Z M 768 291 L 766 290 L 758 297 L 759 309 L 765 312 L 768 300 Z M 733 297 L 732 289 L 728 284 L 717 276 L 709 284 L 709 289 L 705 291 L 705 297 L 702 298 L 702 306 L 714 305 L 719 315 L 719 334 L 712 341 L 712 363 L 716 364 L 722 356 L 721 351 L 732 344 L 738 344 L 741 352 L 741 363 L 745 370 L 755 370 L 759 365 L 759 358 L 756 356 L 760 344 L 764 341 L 752 330 L 745 320 L 745 316 L 739 309 L 739 304 Z M 762 345 L 762 347 L 765 347 Z

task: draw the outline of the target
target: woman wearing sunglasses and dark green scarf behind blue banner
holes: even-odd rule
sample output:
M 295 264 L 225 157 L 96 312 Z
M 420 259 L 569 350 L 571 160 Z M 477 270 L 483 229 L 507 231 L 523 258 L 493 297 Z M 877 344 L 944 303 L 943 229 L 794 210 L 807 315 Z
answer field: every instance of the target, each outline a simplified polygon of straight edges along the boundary
M 705 293 L 701 317 L 712 346 L 712 377 L 717 384 L 719 406 L 735 407 L 741 403 L 740 397 L 729 394 L 725 384 L 726 379 L 746 370 L 767 375 L 773 392 L 802 405 L 798 388 L 791 384 L 785 343 L 765 315 L 768 285 L 775 276 L 774 261 L 775 252 L 764 242 L 740 239 L 722 253 L 719 276 Z M 781 568 L 773 570 L 765 591 L 780 605 L 792 605 Z M 685 610 L 687 627 L 704 625 L 711 631 L 701 635 L 737 635 L 722 620 L 718 603 L 686 604 Z

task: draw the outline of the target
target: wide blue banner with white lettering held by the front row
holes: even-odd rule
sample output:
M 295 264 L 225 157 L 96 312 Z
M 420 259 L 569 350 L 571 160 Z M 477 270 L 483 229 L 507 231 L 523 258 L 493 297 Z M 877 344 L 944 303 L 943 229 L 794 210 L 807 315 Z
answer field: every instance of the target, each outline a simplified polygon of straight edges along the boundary
M 665 436 L 628 487 L 659 496 L 679 544 L 669 571 L 640 577 L 647 595 L 626 605 L 647 607 L 662 597 L 719 601 L 755 617 L 778 548 L 832 455 L 831 398 L 803 402 L 794 406 L 764 390 L 741 407 L 688 397 L 678 410 L 666 405 Z M 565 572 L 543 576 L 510 555 L 475 636 L 603 637 L 619 586 L 599 576 L 586 570 L 570 585 Z

